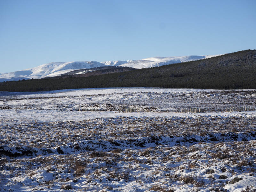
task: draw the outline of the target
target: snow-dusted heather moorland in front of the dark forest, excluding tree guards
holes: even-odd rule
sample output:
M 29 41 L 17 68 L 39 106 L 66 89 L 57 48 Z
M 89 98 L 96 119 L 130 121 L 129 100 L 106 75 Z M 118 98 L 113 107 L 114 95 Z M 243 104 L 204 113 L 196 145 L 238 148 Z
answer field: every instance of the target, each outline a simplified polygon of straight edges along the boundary
M 0 191 L 256 191 L 255 99 L 256 90 L 0 92 Z

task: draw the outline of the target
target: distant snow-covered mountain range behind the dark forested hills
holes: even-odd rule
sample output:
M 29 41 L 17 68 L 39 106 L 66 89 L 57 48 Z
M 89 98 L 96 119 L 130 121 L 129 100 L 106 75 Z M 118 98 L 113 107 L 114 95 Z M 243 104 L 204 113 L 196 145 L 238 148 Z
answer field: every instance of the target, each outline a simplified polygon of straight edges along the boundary
M 150 57 L 142 60 L 126 60 L 126 61 L 81 61 L 81 62 L 53 62 L 40 65 L 35 68 L 29 68 L 11 73 L 0 73 L 0 82 L 18 81 L 22 79 L 37 79 L 44 77 L 58 76 L 76 69 L 95 68 L 104 66 L 123 66 L 132 68 L 150 68 L 185 61 L 207 59 L 219 55 L 206 56 L 183 56 L 183 57 Z

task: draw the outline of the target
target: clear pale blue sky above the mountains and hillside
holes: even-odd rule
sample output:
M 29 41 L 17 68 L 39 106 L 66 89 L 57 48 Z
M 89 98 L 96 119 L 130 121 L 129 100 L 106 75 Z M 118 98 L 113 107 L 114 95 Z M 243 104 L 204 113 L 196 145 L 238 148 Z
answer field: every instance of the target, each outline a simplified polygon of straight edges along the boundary
M 255 0 L 0 0 L 0 73 L 255 48 Z

